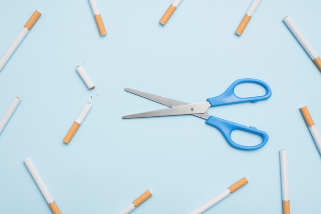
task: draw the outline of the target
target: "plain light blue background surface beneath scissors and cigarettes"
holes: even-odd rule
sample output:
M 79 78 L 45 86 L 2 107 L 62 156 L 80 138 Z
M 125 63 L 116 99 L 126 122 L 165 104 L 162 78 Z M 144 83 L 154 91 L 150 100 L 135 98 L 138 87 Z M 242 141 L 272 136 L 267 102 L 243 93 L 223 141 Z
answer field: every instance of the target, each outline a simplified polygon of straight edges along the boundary
M 280 149 L 288 150 L 291 211 L 319 212 L 320 154 L 299 108 L 321 124 L 321 76 L 282 20 L 289 15 L 321 53 L 321 1 L 263 0 L 240 37 L 251 0 L 183 1 L 162 26 L 171 3 L 97 0 L 101 37 L 86 0 L 0 2 L 1 56 L 34 10 L 42 13 L 0 72 L 0 116 L 22 99 L 0 135 L 1 213 L 51 213 L 27 157 L 63 213 L 117 213 L 147 189 L 153 196 L 132 213 L 188 213 L 243 177 L 247 185 L 206 213 L 282 213 Z M 267 82 L 271 98 L 208 112 L 266 131 L 256 151 L 231 147 L 192 116 L 121 118 L 165 108 L 126 87 L 195 103 L 239 78 Z M 93 108 L 66 145 L 87 101 Z

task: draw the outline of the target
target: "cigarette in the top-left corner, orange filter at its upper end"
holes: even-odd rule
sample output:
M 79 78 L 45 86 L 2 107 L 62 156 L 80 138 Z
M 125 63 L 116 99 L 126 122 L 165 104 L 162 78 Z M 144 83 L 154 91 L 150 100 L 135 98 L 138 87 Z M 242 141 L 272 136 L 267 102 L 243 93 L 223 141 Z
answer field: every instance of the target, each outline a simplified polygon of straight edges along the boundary
M 4 68 L 14 51 L 18 48 L 18 46 L 21 44 L 21 42 L 24 40 L 28 32 L 31 30 L 33 25 L 37 22 L 38 18 L 41 16 L 41 13 L 39 13 L 37 10 L 34 11 L 32 16 L 29 18 L 26 25 L 22 28 L 22 30 L 19 32 L 17 37 L 13 40 L 12 44 L 8 48 L 8 50 L 5 52 L 3 57 L 0 59 L 0 71 Z

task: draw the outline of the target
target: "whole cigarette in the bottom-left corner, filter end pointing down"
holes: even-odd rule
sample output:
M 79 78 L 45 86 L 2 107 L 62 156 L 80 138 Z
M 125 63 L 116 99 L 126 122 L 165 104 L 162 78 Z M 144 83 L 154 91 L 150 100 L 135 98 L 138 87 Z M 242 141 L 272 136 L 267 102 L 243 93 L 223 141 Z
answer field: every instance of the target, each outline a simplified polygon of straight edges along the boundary
M 46 184 L 44 183 L 43 179 L 39 175 L 36 167 L 34 166 L 33 162 L 30 158 L 26 158 L 24 160 L 25 165 L 27 166 L 29 173 L 31 174 L 33 180 L 37 184 L 38 188 L 40 189 L 41 193 L 43 194 L 45 200 L 47 201 L 51 211 L 53 214 L 61 214 L 61 211 L 57 207 L 56 202 L 53 200 Z

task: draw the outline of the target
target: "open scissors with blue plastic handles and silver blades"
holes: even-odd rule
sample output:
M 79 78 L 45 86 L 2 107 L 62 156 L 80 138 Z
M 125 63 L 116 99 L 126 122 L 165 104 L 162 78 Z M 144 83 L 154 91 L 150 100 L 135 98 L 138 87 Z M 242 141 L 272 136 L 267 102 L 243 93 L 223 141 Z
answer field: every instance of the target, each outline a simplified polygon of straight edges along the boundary
M 262 96 L 238 97 L 235 95 L 234 89 L 238 84 L 242 84 L 242 83 L 258 84 L 266 90 L 266 93 L 265 95 L 262 95 Z M 224 135 L 225 139 L 231 146 L 233 146 L 234 148 L 243 149 L 243 150 L 258 149 L 264 146 L 269 139 L 269 136 L 266 132 L 257 130 L 255 127 L 240 125 L 228 120 L 211 116 L 207 113 L 207 110 L 211 106 L 227 105 L 227 104 L 234 104 L 234 103 L 240 103 L 240 102 L 257 102 L 259 100 L 268 99 L 271 96 L 272 92 L 269 85 L 262 80 L 250 79 L 250 78 L 238 79 L 234 81 L 223 94 L 216 97 L 208 98 L 207 102 L 201 102 L 201 103 L 195 103 L 195 104 L 189 104 L 186 102 L 169 99 L 166 97 L 161 97 L 161 96 L 157 96 L 157 95 L 153 95 L 153 94 L 149 94 L 149 93 L 145 93 L 145 92 L 141 92 L 133 89 L 128 89 L 128 88 L 125 88 L 125 91 L 150 99 L 152 101 L 170 106 L 171 108 L 158 110 L 158 111 L 138 113 L 133 115 L 127 115 L 127 116 L 123 116 L 122 117 L 123 119 L 173 116 L 173 115 L 194 115 L 196 117 L 205 119 L 206 120 L 205 122 L 207 124 L 216 127 Z M 235 130 L 245 131 L 254 135 L 258 135 L 262 138 L 262 142 L 260 142 L 257 145 L 251 145 L 251 146 L 235 143 L 231 138 L 231 133 Z

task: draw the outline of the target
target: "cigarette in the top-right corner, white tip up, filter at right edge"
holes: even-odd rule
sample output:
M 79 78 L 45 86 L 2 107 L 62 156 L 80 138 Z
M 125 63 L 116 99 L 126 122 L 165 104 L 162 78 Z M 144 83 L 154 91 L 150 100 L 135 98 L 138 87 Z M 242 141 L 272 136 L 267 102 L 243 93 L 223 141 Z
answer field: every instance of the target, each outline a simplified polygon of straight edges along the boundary
M 314 51 L 312 46 L 309 44 L 308 40 L 303 36 L 299 29 L 294 24 L 293 20 L 287 16 L 283 19 L 283 22 L 288 26 L 292 34 L 299 41 L 304 50 L 309 54 L 310 58 L 313 60 L 316 67 L 321 71 L 321 59 Z

